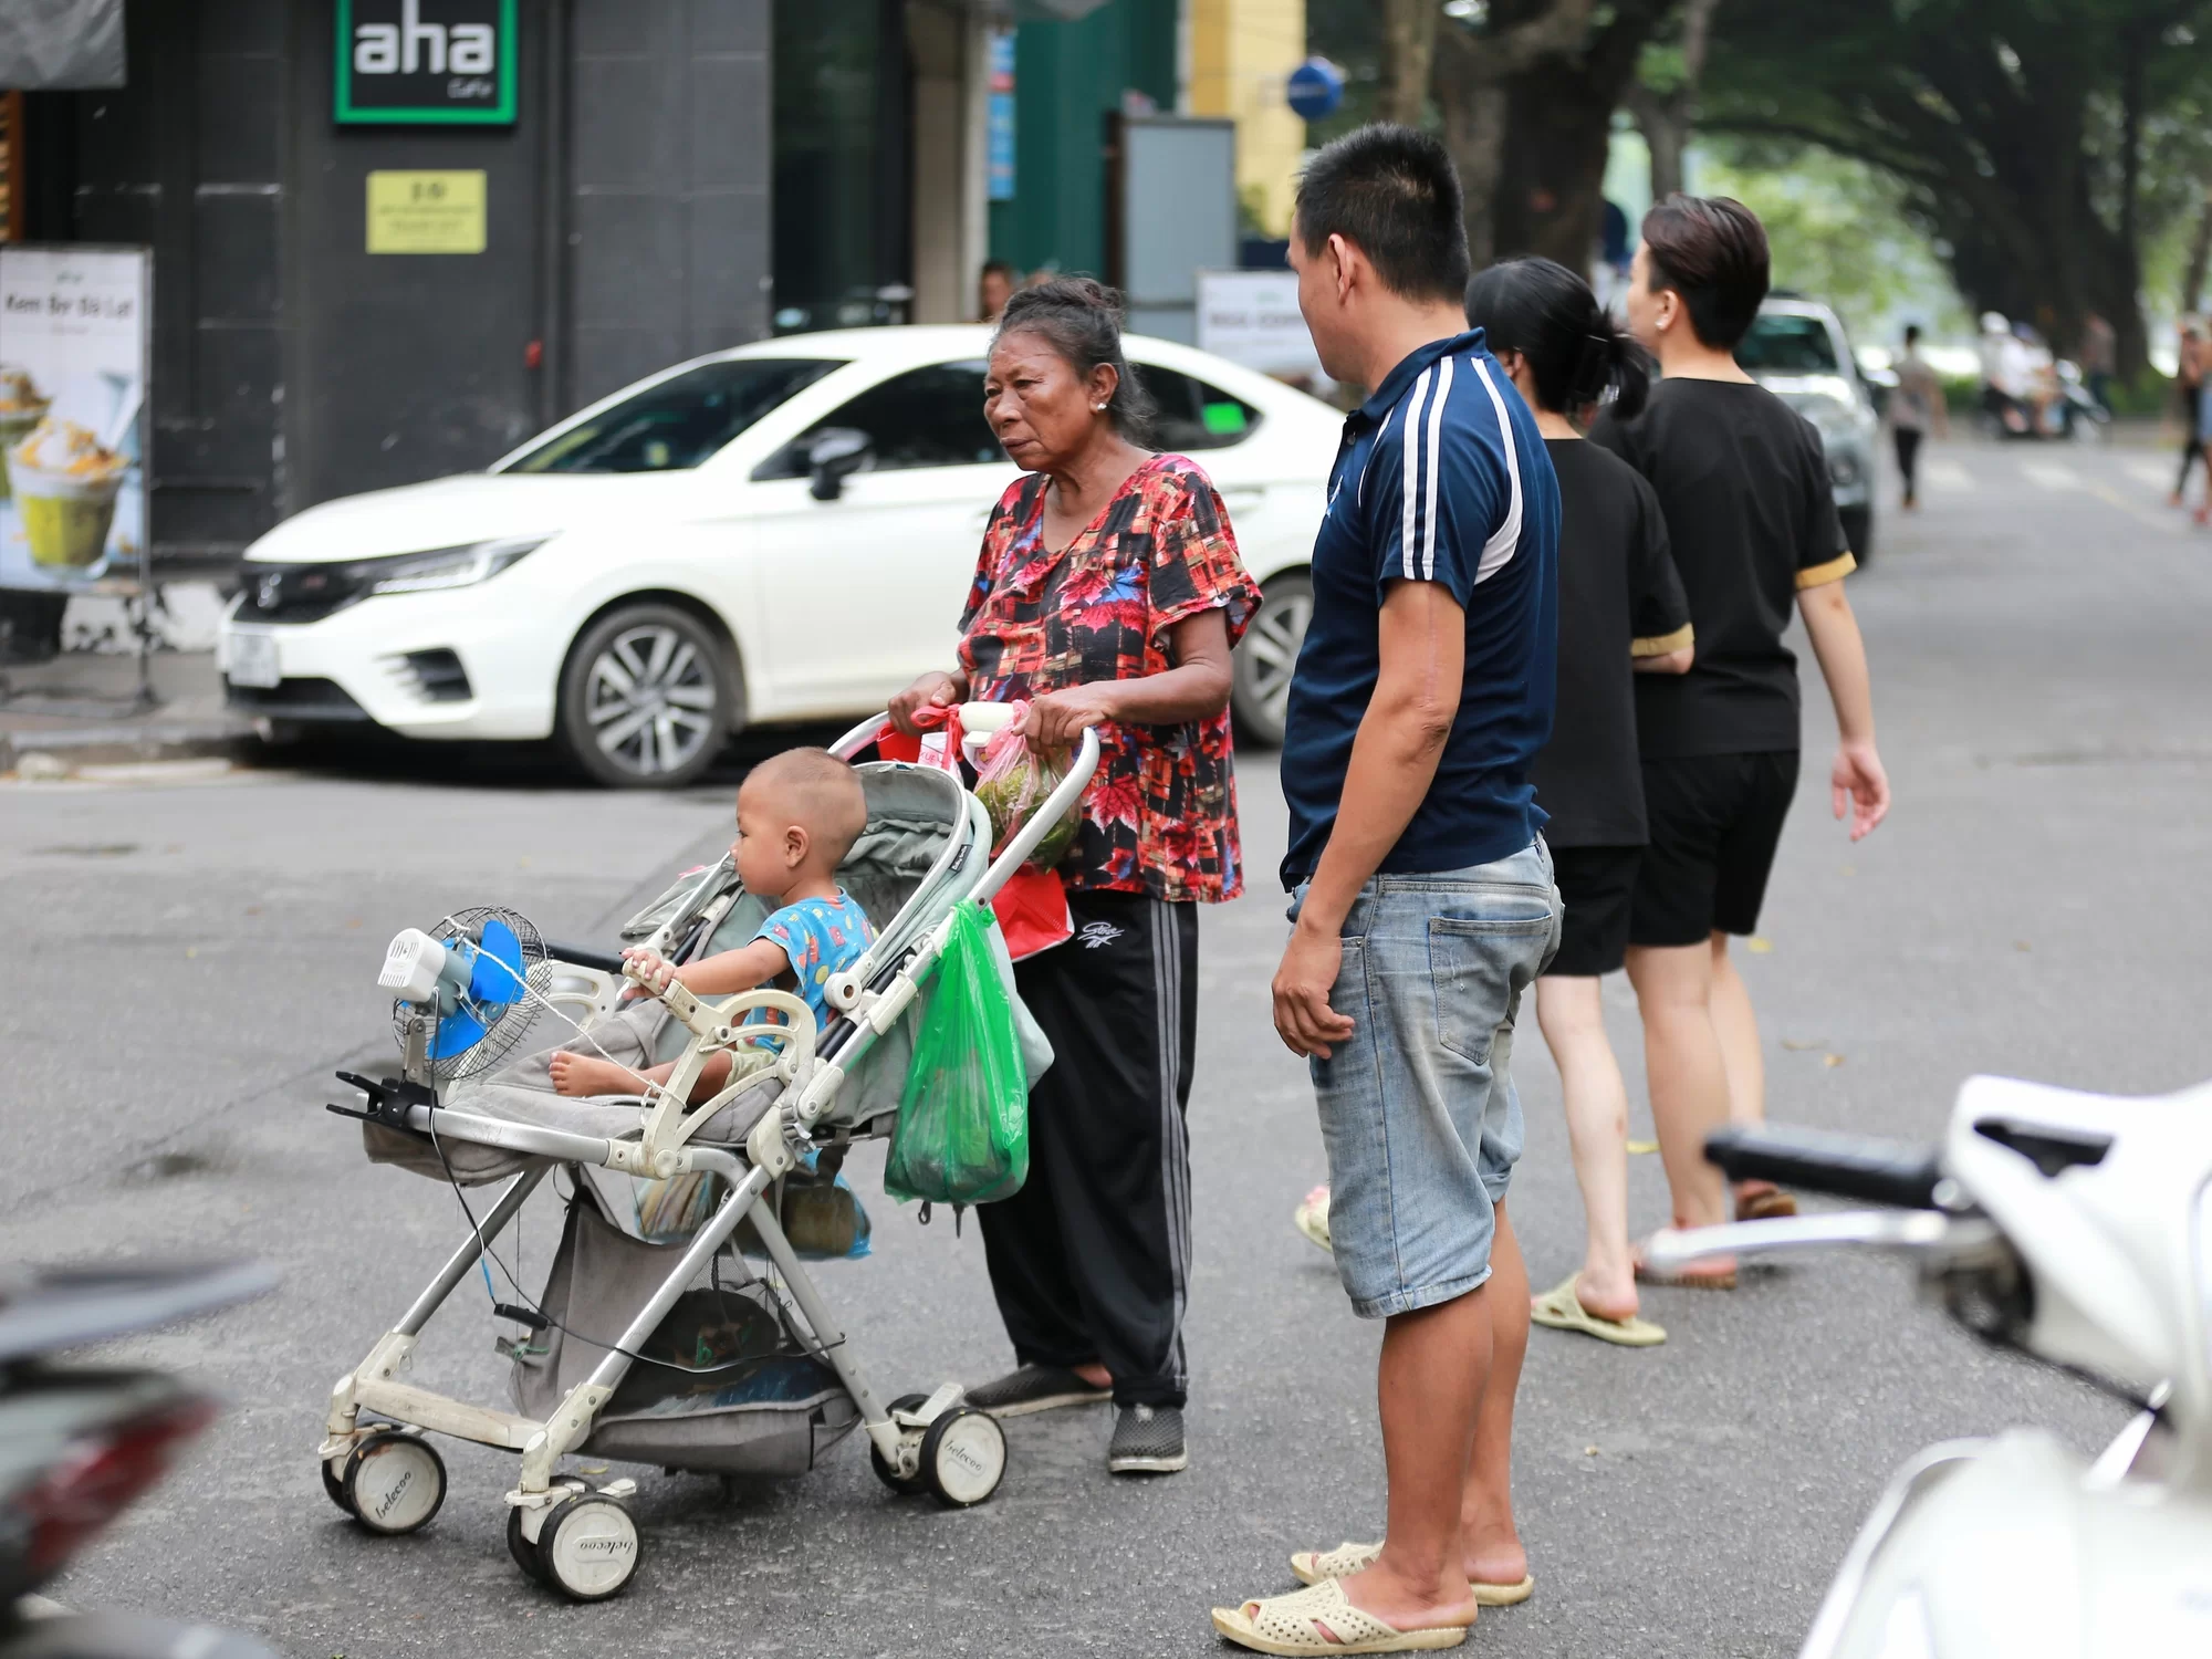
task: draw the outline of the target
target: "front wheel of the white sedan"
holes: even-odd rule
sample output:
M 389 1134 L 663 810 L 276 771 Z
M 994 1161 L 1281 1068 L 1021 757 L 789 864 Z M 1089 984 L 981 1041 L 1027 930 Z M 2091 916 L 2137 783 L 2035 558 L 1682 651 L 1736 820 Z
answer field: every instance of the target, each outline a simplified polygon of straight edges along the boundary
M 633 604 L 591 624 L 560 679 L 560 741 L 615 790 L 681 790 L 714 763 L 737 721 L 730 648 L 672 604 Z

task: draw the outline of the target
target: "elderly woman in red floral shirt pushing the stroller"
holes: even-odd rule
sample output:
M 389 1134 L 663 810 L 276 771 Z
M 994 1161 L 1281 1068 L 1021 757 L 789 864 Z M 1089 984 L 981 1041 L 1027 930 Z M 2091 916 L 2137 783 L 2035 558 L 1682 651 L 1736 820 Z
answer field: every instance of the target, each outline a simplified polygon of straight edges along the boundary
M 1259 586 L 1206 473 L 1144 447 L 1150 398 L 1110 290 L 1015 294 L 984 416 L 1029 476 L 984 529 L 958 666 L 914 681 L 891 721 L 1026 699 L 1031 748 L 1097 730 L 1102 759 L 1060 865 L 1073 938 L 1015 964 L 1057 1062 L 1029 1102 L 1029 1183 L 978 1210 L 1015 1369 L 967 1400 L 1006 1418 L 1110 1398 L 1108 1469 L 1172 1473 L 1188 1464 L 1197 905 L 1243 889 L 1230 648 Z

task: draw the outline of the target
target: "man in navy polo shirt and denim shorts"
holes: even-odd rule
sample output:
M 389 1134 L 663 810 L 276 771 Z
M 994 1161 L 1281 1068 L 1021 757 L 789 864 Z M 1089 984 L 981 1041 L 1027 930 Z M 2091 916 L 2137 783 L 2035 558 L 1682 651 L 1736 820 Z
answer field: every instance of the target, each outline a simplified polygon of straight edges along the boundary
M 1329 144 L 1290 261 L 1323 367 L 1374 387 L 1345 422 L 1290 688 L 1274 1024 L 1307 1055 L 1336 1270 L 1380 1363 L 1389 1533 L 1298 1553 L 1312 1588 L 1214 1608 L 1265 1652 L 1453 1644 L 1528 1595 L 1513 1389 L 1528 1276 L 1506 1223 L 1520 993 L 1559 938 L 1528 763 L 1551 737 L 1559 484 L 1482 332 L 1444 148 L 1400 126 Z

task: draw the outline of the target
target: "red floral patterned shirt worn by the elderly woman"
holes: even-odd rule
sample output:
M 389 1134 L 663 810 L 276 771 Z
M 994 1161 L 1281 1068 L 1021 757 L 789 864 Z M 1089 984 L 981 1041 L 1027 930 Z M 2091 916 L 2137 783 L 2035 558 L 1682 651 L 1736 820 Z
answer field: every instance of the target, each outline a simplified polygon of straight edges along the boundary
M 1183 456 L 1155 456 L 1062 553 L 1044 546 L 1044 473 L 1000 498 L 960 613 L 960 666 L 975 701 L 1040 697 L 1175 668 L 1168 628 L 1228 613 L 1230 644 L 1259 611 L 1259 584 L 1212 482 Z M 1221 900 L 1243 891 L 1230 717 L 1099 732 L 1084 823 L 1060 865 L 1079 891 Z

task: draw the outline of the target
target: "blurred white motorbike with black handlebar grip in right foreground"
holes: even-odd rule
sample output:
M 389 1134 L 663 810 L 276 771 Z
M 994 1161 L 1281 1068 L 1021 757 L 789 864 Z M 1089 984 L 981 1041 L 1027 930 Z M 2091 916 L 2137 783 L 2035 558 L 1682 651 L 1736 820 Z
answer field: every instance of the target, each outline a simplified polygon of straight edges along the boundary
M 1907 1462 L 1801 1659 L 2212 1652 L 2212 1084 L 2117 1099 L 1973 1077 L 1938 1152 L 1767 1128 L 1717 1130 L 1705 1157 L 1893 1208 L 1661 1232 L 1659 1270 L 1902 1252 L 1975 1336 L 2139 1407 L 2095 1462 L 2039 1429 Z

